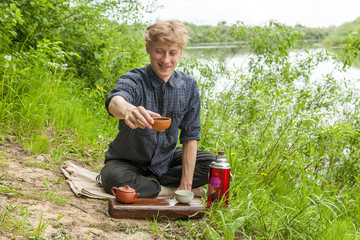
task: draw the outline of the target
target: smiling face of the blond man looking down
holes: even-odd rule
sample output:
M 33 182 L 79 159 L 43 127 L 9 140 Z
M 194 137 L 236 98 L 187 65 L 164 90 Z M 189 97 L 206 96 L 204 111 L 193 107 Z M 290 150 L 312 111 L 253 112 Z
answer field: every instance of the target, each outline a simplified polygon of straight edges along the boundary
M 151 45 L 146 44 L 146 52 L 150 55 L 152 69 L 167 82 L 182 56 L 183 49 L 178 44 L 153 42 Z

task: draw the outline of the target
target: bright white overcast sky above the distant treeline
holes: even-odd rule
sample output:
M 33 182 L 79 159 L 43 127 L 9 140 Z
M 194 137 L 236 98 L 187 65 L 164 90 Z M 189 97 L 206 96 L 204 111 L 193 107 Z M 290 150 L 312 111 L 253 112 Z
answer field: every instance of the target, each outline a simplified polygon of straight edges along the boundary
M 263 25 L 275 20 L 288 26 L 329 27 L 360 17 L 360 0 L 158 0 L 158 4 L 164 7 L 151 14 L 150 21 Z

